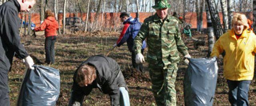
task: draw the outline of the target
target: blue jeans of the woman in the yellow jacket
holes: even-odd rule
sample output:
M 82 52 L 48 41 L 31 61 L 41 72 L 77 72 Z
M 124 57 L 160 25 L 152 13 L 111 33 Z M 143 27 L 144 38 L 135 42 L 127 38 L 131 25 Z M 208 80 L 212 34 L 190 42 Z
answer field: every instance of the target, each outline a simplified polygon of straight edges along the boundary
M 251 80 L 232 81 L 228 82 L 228 101 L 231 106 L 249 106 L 248 92 Z

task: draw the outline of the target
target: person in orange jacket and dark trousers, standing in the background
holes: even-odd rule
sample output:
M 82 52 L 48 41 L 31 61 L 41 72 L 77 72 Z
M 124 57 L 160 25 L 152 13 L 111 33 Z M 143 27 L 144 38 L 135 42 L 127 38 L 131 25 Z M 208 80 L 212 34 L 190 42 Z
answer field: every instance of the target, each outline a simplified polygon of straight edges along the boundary
M 44 49 L 45 49 L 45 58 L 47 64 L 54 64 L 54 56 L 55 50 L 54 45 L 57 38 L 57 30 L 59 28 L 58 22 L 54 18 L 54 13 L 50 10 L 47 10 L 44 15 L 45 19 L 44 22 L 36 28 L 32 28 L 35 31 L 43 31 L 45 34 L 45 42 L 44 42 Z

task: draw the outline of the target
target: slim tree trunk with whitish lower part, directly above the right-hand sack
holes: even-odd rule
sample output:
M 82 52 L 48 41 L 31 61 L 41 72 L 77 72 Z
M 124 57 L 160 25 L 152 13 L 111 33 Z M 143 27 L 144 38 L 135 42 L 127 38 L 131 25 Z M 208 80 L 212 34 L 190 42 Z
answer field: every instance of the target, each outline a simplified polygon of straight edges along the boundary
M 207 4 L 205 4 L 207 5 Z M 205 6 L 206 8 L 206 17 L 207 17 L 207 33 L 208 33 L 208 57 L 210 57 L 210 54 L 212 52 L 212 48 L 214 46 L 214 31 L 212 27 L 212 20 L 211 20 L 211 15 L 208 9 L 208 6 Z

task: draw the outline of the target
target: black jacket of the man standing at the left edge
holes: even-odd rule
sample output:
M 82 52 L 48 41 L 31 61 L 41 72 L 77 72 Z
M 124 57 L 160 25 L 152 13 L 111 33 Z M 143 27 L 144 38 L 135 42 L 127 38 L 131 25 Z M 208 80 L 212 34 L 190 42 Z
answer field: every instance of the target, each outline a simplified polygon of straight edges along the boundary
M 9 70 L 14 54 L 23 59 L 28 56 L 20 43 L 18 12 L 20 4 L 17 0 L 9 0 L 0 6 L 0 68 Z

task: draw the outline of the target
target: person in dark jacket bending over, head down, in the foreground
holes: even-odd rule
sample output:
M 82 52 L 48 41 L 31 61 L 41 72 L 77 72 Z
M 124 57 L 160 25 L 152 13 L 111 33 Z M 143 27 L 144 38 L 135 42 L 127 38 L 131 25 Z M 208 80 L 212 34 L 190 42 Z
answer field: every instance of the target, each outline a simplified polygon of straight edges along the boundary
M 112 58 L 96 55 L 83 62 L 75 71 L 73 86 L 68 106 L 80 106 L 92 91 L 98 88 L 104 94 L 109 94 L 111 106 L 130 106 L 128 88 L 120 66 Z M 121 93 L 120 93 L 121 92 Z M 122 99 L 120 99 L 121 97 Z

